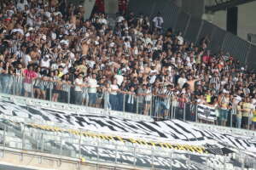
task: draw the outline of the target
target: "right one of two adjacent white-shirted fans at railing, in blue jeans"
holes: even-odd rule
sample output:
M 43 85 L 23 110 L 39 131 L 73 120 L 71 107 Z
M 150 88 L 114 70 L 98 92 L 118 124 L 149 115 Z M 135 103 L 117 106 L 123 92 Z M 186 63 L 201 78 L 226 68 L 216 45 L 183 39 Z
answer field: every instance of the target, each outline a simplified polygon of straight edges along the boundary
M 89 106 L 96 106 L 96 93 L 97 93 L 97 87 L 98 82 L 96 81 L 96 74 L 93 73 L 92 77 L 88 79 L 88 95 L 89 95 Z

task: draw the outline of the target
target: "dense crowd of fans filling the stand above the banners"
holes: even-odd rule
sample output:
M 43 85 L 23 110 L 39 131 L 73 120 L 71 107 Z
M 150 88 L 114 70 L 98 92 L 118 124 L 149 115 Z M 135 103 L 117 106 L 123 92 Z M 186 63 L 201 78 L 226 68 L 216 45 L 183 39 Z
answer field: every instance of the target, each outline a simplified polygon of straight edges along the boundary
M 217 124 L 232 116 L 234 127 L 256 127 L 256 75 L 235 56 L 211 54 L 207 37 L 186 42 L 163 29 L 160 13 L 118 14 L 114 27 L 106 14 L 83 16 L 65 1 L 3 0 L 1 92 L 151 116 L 172 106 L 177 118 L 187 104 L 211 105 Z

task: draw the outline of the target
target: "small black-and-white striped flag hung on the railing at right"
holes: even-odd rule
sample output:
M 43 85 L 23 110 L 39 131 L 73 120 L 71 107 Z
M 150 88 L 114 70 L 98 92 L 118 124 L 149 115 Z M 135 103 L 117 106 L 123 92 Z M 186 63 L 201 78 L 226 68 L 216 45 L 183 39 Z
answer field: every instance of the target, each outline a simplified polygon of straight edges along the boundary
M 197 116 L 199 119 L 207 122 L 214 122 L 217 120 L 215 108 L 209 105 L 198 105 Z

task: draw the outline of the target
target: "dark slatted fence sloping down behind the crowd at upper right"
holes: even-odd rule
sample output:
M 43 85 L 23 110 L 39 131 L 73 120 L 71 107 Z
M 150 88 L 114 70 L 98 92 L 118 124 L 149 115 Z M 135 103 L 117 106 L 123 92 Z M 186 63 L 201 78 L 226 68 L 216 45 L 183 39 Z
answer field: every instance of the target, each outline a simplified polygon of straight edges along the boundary
M 129 9 L 135 14 L 147 14 L 151 20 L 160 12 L 164 19 L 164 27 L 172 28 L 172 31 L 175 32 L 182 31 L 185 40 L 200 44 L 203 37 L 208 37 L 210 40 L 208 48 L 212 50 L 213 54 L 222 50 L 240 60 L 241 65 L 247 65 L 248 69 L 252 70 L 256 65 L 256 57 L 254 57 L 256 47 L 253 44 L 224 31 L 207 20 L 201 20 L 185 13 L 171 1 L 131 0 Z

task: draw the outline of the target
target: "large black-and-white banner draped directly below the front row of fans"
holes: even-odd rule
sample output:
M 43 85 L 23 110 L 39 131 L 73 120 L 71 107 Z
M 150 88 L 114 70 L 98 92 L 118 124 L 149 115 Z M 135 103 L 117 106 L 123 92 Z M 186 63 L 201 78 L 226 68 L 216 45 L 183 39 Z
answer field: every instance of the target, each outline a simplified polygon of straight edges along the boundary
M 169 144 L 189 144 L 206 147 L 207 144 L 249 150 L 256 153 L 256 140 L 253 137 L 235 136 L 229 133 L 202 130 L 192 124 L 178 120 L 160 122 L 135 122 L 113 116 L 77 114 L 73 111 L 56 111 L 17 105 L 9 101 L 0 102 L 0 116 L 26 118 L 31 122 L 51 122 L 62 127 L 84 129 L 95 133 L 111 134 L 123 139 L 137 139 Z M 207 149 L 207 147 L 206 147 Z

